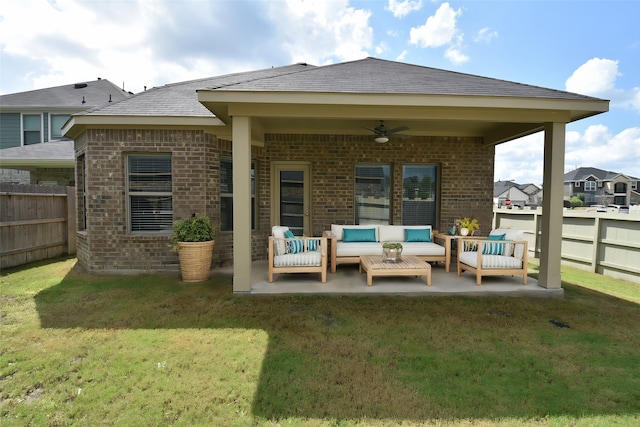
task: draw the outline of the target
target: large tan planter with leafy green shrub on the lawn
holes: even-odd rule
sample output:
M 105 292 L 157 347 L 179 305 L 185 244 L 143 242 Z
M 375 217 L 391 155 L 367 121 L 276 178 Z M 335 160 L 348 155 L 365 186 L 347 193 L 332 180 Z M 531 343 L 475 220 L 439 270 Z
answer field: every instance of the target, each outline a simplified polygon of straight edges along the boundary
M 192 216 L 173 224 L 173 249 L 178 252 L 184 282 L 209 279 L 215 230 L 207 216 Z

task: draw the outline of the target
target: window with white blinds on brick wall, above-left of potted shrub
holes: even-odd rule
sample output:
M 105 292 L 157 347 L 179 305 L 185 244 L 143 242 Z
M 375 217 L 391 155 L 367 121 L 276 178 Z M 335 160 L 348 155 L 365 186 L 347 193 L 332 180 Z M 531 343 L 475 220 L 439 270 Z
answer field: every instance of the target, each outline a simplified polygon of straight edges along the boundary
M 131 232 L 171 230 L 171 156 L 127 156 L 127 197 Z

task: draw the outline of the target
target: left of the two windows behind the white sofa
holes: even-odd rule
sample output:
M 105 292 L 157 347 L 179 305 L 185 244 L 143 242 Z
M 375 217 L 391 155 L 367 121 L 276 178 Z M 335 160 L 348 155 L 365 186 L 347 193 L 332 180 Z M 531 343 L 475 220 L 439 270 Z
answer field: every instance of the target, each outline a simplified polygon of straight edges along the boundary
M 356 165 L 355 224 L 389 224 L 389 165 Z

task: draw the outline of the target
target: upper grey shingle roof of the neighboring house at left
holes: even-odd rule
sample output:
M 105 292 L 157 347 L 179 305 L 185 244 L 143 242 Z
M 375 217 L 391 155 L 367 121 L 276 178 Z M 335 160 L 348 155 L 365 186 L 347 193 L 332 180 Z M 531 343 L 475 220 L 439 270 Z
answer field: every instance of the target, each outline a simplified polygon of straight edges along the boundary
M 129 96 L 129 92 L 123 91 L 109 80 L 100 79 L 1 95 L 0 108 L 13 110 L 66 108 L 82 111 L 107 104 L 109 98 L 112 102 L 117 102 Z

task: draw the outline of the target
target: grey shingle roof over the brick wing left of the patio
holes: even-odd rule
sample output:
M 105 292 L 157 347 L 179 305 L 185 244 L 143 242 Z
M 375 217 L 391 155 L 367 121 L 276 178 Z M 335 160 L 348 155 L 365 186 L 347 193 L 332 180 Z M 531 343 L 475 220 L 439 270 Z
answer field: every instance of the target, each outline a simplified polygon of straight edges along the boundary
M 310 67 L 312 66 L 295 64 L 168 84 L 140 92 L 124 102 L 89 110 L 87 113 L 126 116 L 213 117 L 213 113 L 198 102 L 198 95 L 196 94 L 198 89 L 215 86 L 226 87 L 252 80 L 269 79 L 282 74 L 296 73 L 301 69 L 305 70 Z

